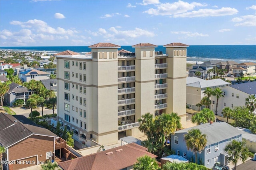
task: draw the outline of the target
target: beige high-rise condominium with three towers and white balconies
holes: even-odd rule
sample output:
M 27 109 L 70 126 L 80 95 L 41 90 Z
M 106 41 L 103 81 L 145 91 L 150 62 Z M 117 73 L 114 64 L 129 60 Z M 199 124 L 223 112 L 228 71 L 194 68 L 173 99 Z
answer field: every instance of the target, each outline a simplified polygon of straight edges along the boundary
M 166 54 L 156 45 L 98 43 L 90 55 L 65 51 L 57 58 L 57 113 L 79 139 L 102 145 L 118 141 L 118 132 L 142 136 L 138 118 L 176 112 L 186 127 L 186 44 L 171 43 Z

